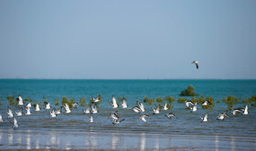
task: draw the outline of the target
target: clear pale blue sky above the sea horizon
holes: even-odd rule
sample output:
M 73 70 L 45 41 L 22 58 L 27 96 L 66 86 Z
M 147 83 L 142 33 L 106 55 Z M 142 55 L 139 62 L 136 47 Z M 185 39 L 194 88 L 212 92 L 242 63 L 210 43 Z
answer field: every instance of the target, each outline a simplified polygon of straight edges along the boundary
M 255 56 L 255 0 L 0 0 L 0 78 L 256 79 Z

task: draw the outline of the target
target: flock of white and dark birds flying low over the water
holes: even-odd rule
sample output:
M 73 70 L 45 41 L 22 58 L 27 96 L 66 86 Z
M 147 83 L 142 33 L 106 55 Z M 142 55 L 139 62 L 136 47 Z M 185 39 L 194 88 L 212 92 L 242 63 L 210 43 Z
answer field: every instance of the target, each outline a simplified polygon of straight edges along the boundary
M 90 106 L 88 106 L 87 109 L 82 110 L 84 114 L 97 114 L 98 113 L 98 106 L 96 105 L 96 103 L 98 103 L 100 101 L 100 96 L 97 96 L 96 98 L 92 97 L 92 104 Z M 31 115 L 31 103 L 27 103 L 27 105 L 24 105 L 23 102 L 23 98 L 21 96 L 18 96 L 16 98 L 17 101 L 17 106 L 21 106 L 18 110 L 18 112 L 15 111 L 16 116 L 22 116 L 22 115 Z M 112 96 L 112 102 L 109 101 L 109 103 L 112 105 L 112 109 L 118 108 L 119 105 L 115 99 L 114 96 Z M 56 109 L 55 107 L 50 106 L 50 104 L 48 102 L 45 102 L 45 109 L 48 110 L 49 116 L 50 117 L 56 117 L 57 115 L 62 113 L 62 108 L 64 107 L 65 109 L 65 113 L 69 114 L 71 112 L 71 109 L 69 108 L 68 104 L 64 104 L 62 106 L 59 107 L 59 109 Z M 123 98 L 123 103 L 120 103 L 122 108 L 127 108 L 127 103 L 125 101 L 125 99 Z M 77 108 L 79 104 L 78 103 L 74 103 L 71 106 L 74 108 Z M 131 108 L 131 110 L 135 113 L 144 113 L 145 109 L 144 109 L 144 105 L 143 103 L 138 102 L 137 103 L 138 106 L 133 106 Z M 187 106 L 187 108 L 190 108 L 191 112 L 196 112 L 197 111 L 197 102 L 193 103 L 192 101 L 186 101 L 185 105 Z M 202 106 L 208 106 L 210 105 L 210 102 L 205 101 L 202 103 Z M 23 113 L 23 106 L 26 109 L 26 113 Z M 35 107 L 35 112 L 38 112 L 41 110 L 40 106 L 38 104 L 33 105 Z M 52 108 L 52 109 L 51 109 Z M 165 103 L 165 106 L 156 106 L 155 108 L 152 107 L 153 110 L 153 115 L 158 115 L 160 114 L 161 110 L 168 110 L 167 107 L 167 103 Z M 217 117 L 218 120 L 224 120 L 225 117 L 229 117 L 227 115 L 228 110 L 226 110 L 223 113 L 220 113 L 219 116 Z M 235 108 L 232 110 L 231 112 L 233 114 L 233 116 L 238 116 L 238 114 L 242 114 L 242 115 L 248 115 L 248 106 L 245 106 L 245 108 Z M 17 123 L 17 120 L 15 118 L 15 115 L 13 114 L 13 111 L 11 110 L 10 107 L 7 108 L 6 114 L 8 115 L 7 118 L 12 118 L 12 125 L 13 128 L 16 129 L 19 125 Z M 176 116 L 173 113 L 168 113 L 167 115 L 165 115 L 167 118 L 171 119 L 171 118 L 176 118 Z M 121 122 L 123 122 L 124 119 L 121 119 L 118 116 L 118 111 L 112 112 L 109 116 L 109 118 L 112 120 L 112 124 L 116 125 L 116 124 L 120 124 Z M 150 119 L 151 117 L 147 114 L 143 114 L 142 116 L 140 116 L 140 119 L 144 122 L 146 122 L 146 118 Z M 201 118 L 201 122 L 208 122 L 208 113 L 205 114 L 204 117 L 200 117 Z M 93 123 L 93 117 L 90 116 L 90 123 Z M 3 122 L 3 118 L 0 115 L 0 122 Z

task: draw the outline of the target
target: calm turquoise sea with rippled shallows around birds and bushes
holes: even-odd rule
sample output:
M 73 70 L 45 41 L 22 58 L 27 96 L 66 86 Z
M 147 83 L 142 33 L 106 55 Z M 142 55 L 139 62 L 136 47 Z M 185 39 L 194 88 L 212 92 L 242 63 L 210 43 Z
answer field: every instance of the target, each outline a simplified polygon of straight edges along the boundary
M 181 150 L 255 150 L 256 149 L 256 108 L 249 108 L 247 116 L 232 116 L 224 121 L 216 120 L 219 113 L 228 109 L 218 103 L 212 111 L 197 106 L 190 113 L 184 104 L 174 104 L 172 110 L 153 115 L 151 106 L 145 106 L 145 113 L 151 119 L 144 123 L 140 114 L 131 109 L 112 109 L 108 101 L 112 95 L 124 96 L 131 108 L 136 100 L 143 101 L 144 96 L 174 96 L 178 99 L 180 91 L 192 85 L 199 95 L 213 96 L 222 101 L 230 95 L 242 99 L 256 95 L 256 80 L 0 80 L 0 114 L 4 122 L 0 123 L 0 149 L 181 149 Z M 7 96 L 21 95 L 33 98 L 33 102 L 48 99 L 51 106 L 63 96 L 75 98 L 103 96 L 100 113 L 83 115 L 79 106 L 70 114 L 61 114 L 51 118 L 48 111 L 42 109 L 32 115 L 16 116 L 20 125 L 12 129 L 10 119 L 5 113 L 9 104 Z M 189 98 L 189 97 L 188 97 Z M 60 101 L 61 102 L 61 101 Z M 234 107 L 244 107 L 239 104 Z M 10 106 L 18 110 L 17 106 Z M 56 106 L 59 108 L 59 106 Z M 123 123 L 113 126 L 108 118 L 111 112 L 118 110 Z M 25 112 L 25 111 L 24 111 Z M 165 115 L 173 112 L 178 118 L 167 119 Z M 201 123 L 200 116 L 208 112 L 209 121 Z M 89 124 L 89 116 L 94 123 Z

